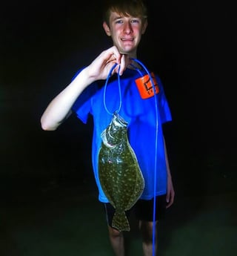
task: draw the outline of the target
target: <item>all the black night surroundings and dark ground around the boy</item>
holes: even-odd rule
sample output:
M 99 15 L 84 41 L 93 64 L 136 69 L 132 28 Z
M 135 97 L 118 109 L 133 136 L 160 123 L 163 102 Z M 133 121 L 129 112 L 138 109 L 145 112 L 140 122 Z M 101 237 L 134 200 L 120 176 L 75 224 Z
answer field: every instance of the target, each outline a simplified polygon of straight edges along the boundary
M 72 116 L 46 132 L 39 121 L 109 44 L 97 8 L 81 12 L 77 4 L 1 7 L 1 256 L 113 255 L 90 165 L 92 124 Z M 164 129 L 176 188 L 159 223 L 158 255 L 236 255 L 235 9 L 208 1 L 150 6 L 139 59 L 160 74 L 170 102 L 173 122 Z M 135 226 L 127 241 L 128 255 L 142 255 Z

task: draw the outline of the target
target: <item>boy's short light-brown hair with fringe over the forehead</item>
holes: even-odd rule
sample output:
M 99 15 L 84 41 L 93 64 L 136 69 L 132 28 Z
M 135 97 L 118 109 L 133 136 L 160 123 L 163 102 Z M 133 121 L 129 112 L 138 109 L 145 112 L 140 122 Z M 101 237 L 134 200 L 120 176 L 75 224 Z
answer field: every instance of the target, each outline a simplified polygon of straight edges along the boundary
M 147 19 L 147 6 L 143 0 L 105 0 L 103 19 L 108 26 L 110 25 L 110 12 L 138 17 L 143 23 Z

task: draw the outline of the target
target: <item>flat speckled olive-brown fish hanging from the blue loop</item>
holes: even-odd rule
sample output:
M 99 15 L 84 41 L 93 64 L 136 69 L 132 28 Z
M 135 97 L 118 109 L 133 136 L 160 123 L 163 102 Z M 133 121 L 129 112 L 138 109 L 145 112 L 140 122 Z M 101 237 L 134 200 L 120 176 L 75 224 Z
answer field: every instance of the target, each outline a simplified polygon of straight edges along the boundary
M 125 211 L 141 196 L 144 178 L 127 139 L 127 122 L 114 113 L 101 139 L 99 180 L 104 194 L 115 208 L 112 226 L 120 232 L 130 231 Z

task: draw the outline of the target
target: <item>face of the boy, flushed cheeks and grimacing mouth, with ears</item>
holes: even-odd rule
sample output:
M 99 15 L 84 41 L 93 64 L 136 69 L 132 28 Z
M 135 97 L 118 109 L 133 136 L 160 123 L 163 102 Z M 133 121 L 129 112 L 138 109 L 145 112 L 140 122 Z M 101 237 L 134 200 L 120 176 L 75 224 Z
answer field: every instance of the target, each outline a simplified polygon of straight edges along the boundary
M 121 16 L 119 13 L 110 13 L 110 24 L 103 23 L 107 36 L 111 36 L 113 45 L 118 47 L 120 53 L 127 53 L 136 57 L 136 49 L 141 35 L 147 28 L 147 21 L 142 23 L 141 18 Z

